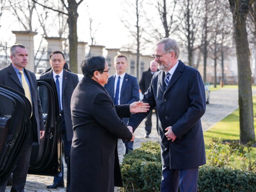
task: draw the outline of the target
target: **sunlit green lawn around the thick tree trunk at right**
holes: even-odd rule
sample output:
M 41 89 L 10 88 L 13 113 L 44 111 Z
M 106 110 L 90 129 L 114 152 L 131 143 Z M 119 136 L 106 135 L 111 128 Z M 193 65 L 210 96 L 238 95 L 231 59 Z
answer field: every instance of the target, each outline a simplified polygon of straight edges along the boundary
M 256 112 L 256 96 L 253 97 L 253 114 Z M 254 117 L 254 132 L 256 133 L 256 117 Z M 212 142 L 212 138 L 220 140 L 239 140 L 239 109 L 204 132 L 205 149 Z M 245 149 L 245 148 L 244 148 Z M 256 160 L 256 148 L 251 152 L 251 158 Z

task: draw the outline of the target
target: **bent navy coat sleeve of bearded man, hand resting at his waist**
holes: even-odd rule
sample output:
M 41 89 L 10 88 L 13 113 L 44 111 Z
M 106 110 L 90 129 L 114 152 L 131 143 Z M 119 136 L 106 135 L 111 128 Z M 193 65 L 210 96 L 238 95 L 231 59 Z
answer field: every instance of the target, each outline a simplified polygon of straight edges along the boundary
M 190 106 L 187 112 L 172 126 L 172 132 L 179 139 L 199 121 L 205 112 L 204 83 L 198 71 L 194 71 L 189 79 L 188 97 Z

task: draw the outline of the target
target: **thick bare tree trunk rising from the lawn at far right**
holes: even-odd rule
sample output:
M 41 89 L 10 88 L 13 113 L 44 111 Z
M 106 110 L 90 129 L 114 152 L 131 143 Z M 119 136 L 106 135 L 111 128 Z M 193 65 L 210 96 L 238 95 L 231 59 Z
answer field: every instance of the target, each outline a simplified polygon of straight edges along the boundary
M 246 18 L 253 2 L 254 0 L 229 0 L 230 10 L 233 15 L 234 38 L 236 42 L 241 144 L 255 140 L 252 108 L 252 72 L 246 31 Z

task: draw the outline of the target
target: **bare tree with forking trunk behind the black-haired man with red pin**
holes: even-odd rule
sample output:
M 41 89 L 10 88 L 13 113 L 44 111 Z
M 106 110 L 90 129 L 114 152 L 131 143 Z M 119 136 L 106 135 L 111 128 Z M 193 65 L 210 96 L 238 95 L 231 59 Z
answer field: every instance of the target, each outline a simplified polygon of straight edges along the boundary
M 39 3 L 38 0 L 32 0 L 34 3 L 37 3 L 47 9 L 51 9 L 52 11 L 59 12 L 63 15 L 68 16 L 68 41 L 69 41 L 69 64 L 70 69 L 74 72 L 77 72 L 77 8 L 84 1 L 79 0 L 76 3 L 76 0 L 67 0 L 68 4 L 64 2 L 64 0 L 60 0 L 63 6 L 65 7 L 67 12 L 60 11 L 58 9 L 54 9 L 51 6 L 46 6 L 45 4 Z

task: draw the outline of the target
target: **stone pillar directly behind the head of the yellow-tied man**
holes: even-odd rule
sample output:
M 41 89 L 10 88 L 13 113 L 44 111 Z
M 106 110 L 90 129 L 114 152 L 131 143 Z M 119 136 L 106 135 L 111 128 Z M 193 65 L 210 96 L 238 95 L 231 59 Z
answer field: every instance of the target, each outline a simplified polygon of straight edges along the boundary
M 16 35 L 16 44 L 23 44 L 28 50 L 28 64 L 26 69 L 35 72 L 34 58 L 34 36 L 37 34 L 33 31 L 12 31 Z

